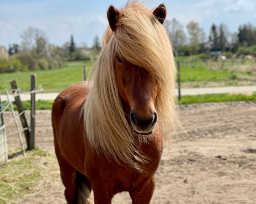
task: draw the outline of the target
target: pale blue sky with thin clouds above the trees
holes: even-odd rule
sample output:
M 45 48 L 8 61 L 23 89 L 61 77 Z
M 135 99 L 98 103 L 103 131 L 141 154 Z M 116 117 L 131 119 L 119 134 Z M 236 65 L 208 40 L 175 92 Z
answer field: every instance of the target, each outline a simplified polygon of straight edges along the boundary
M 239 25 L 256 27 L 256 0 L 151 0 L 148 8 L 164 3 L 166 19 L 175 18 L 186 30 L 193 20 L 206 36 L 212 23 L 224 23 L 233 33 Z M 123 8 L 127 0 L 0 0 L 0 45 L 21 44 L 20 35 L 29 26 L 45 31 L 48 42 L 63 45 L 73 34 L 77 46 L 102 39 L 108 27 L 110 5 Z

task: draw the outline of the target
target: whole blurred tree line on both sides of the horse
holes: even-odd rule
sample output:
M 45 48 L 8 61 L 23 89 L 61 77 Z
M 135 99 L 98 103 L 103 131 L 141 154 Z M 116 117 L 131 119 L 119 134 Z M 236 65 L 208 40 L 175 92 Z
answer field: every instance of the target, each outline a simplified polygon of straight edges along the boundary
M 184 27 L 175 19 L 165 20 L 164 26 L 172 43 L 175 56 L 201 54 L 209 57 L 210 51 L 222 51 L 227 55 L 253 55 L 256 57 L 256 28 L 250 23 L 240 25 L 237 32 L 230 33 L 227 26 L 212 23 L 207 39 L 199 24 L 190 21 Z M 73 35 L 62 46 L 49 43 L 46 33 L 29 27 L 20 35 L 21 44 L 9 45 L 10 60 L 0 59 L 0 73 L 26 70 L 46 70 L 63 66 L 64 60 L 91 60 L 95 62 L 102 48 L 95 36 L 93 46 L 86 43 L 77 46 Z

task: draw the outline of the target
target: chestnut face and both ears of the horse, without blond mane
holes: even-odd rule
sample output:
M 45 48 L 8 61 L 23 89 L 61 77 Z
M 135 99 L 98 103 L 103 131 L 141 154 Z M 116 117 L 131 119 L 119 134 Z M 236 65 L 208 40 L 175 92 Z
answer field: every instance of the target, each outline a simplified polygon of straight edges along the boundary
M 166 9 L 162 4 L 153 12 L 161 24 L 166 17 Z M 113 32 L 116 31 L 121 14 L 111 6 L 108 10 L 108 21 Z M 131 52 L 133 52 L 131 50 Z M 143 48 L 141 50 L 143 52 Z M 155 103 L 160 84 L 157 77 L 147 67 L 136 65 L 125 59 L 122 51 L 116 51 L 113 59 L 116 84 L 122 98 L 123 109 L 130 114 L 131 125 L 137 134 L 151 134 L 157 122 Z

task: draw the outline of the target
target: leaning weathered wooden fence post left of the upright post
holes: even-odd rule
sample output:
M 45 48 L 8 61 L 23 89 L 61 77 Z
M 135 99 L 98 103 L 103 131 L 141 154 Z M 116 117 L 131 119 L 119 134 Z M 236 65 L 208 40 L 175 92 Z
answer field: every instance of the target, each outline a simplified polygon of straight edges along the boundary
M 10 83 L 11 83 L 12 89 L 14 89 L 13 93 L 15 93 L 15 89 L 17 89 L 16 81 L 12 80 Z M 16 102 L 16 105 L 17 105 L 18 112 L 21 113 L 24 109 L 23 109 L 23 105 L 21 103 L 19 95 L 17 95 L 15 97 L 15 102 Z M 20 121 L 21 121 L 21 124 L 22 124 L 23 128 L 28 128 L 29 127 L 28 123 L 26 121 L 25 113 L 22 113 L 20 115 Z M 27 148 L 30 149 L 30 147 L 29 147 L 29 129 L 24 130 L 24 134 L 25 134 L 25 138 L 26 138 Z

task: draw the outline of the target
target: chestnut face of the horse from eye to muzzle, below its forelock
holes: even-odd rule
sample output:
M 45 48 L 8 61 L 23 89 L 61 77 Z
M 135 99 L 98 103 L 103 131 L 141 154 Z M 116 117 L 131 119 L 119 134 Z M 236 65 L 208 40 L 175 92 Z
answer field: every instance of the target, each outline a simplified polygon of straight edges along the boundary
M 125 112 L 137 134 L 151 134 L 157 122 L 154 104 L 159 84 L 148 71 L 125 59 L 114 59 L 116 83 Z

